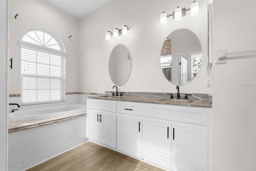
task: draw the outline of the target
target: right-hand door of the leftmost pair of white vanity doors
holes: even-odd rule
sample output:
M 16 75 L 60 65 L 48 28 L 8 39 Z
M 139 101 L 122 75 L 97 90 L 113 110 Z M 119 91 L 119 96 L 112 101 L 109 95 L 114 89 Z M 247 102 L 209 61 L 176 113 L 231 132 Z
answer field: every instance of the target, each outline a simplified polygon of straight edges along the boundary
M 116 148 L 116 113 L 100 112 L 100 143 Z

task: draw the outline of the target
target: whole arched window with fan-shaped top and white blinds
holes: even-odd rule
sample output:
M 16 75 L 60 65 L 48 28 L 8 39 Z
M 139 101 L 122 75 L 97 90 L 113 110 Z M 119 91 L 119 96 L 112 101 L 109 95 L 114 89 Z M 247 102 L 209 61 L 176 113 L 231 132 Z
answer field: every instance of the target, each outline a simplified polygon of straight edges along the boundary
M 30 31 L 23 38 L 20 41 L 21 103 L 64 101 L 66 60 L 60 51 L 62 46 L 56 44 L 56 38 L 40 30 Z M 54 44 L 49 44 L 50 41 Z

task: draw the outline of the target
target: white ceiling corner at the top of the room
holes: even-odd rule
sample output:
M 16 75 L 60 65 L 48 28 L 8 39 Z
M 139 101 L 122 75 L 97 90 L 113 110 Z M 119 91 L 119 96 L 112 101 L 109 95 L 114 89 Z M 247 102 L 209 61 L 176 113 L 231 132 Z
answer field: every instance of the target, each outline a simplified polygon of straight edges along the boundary
M 86 14 L 104 6 L 111 0 L 47 0 L 58 8 L 81 18 Z

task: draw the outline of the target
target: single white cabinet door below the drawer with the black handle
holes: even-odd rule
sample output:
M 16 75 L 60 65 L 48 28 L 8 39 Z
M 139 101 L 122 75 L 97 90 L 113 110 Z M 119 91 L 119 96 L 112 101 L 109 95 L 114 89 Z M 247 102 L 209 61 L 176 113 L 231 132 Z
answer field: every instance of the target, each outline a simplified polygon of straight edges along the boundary
M 142 159 L 142 119 L 117 115 L 117 149 Z

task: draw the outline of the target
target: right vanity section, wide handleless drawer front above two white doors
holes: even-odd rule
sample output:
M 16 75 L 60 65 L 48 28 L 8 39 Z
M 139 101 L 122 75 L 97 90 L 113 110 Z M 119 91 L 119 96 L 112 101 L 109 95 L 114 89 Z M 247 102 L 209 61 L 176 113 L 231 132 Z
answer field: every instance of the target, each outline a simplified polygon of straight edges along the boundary
M 144 105 L 144 116 L 145 160 L 173 171 L 209 170 L 209 108 Z

